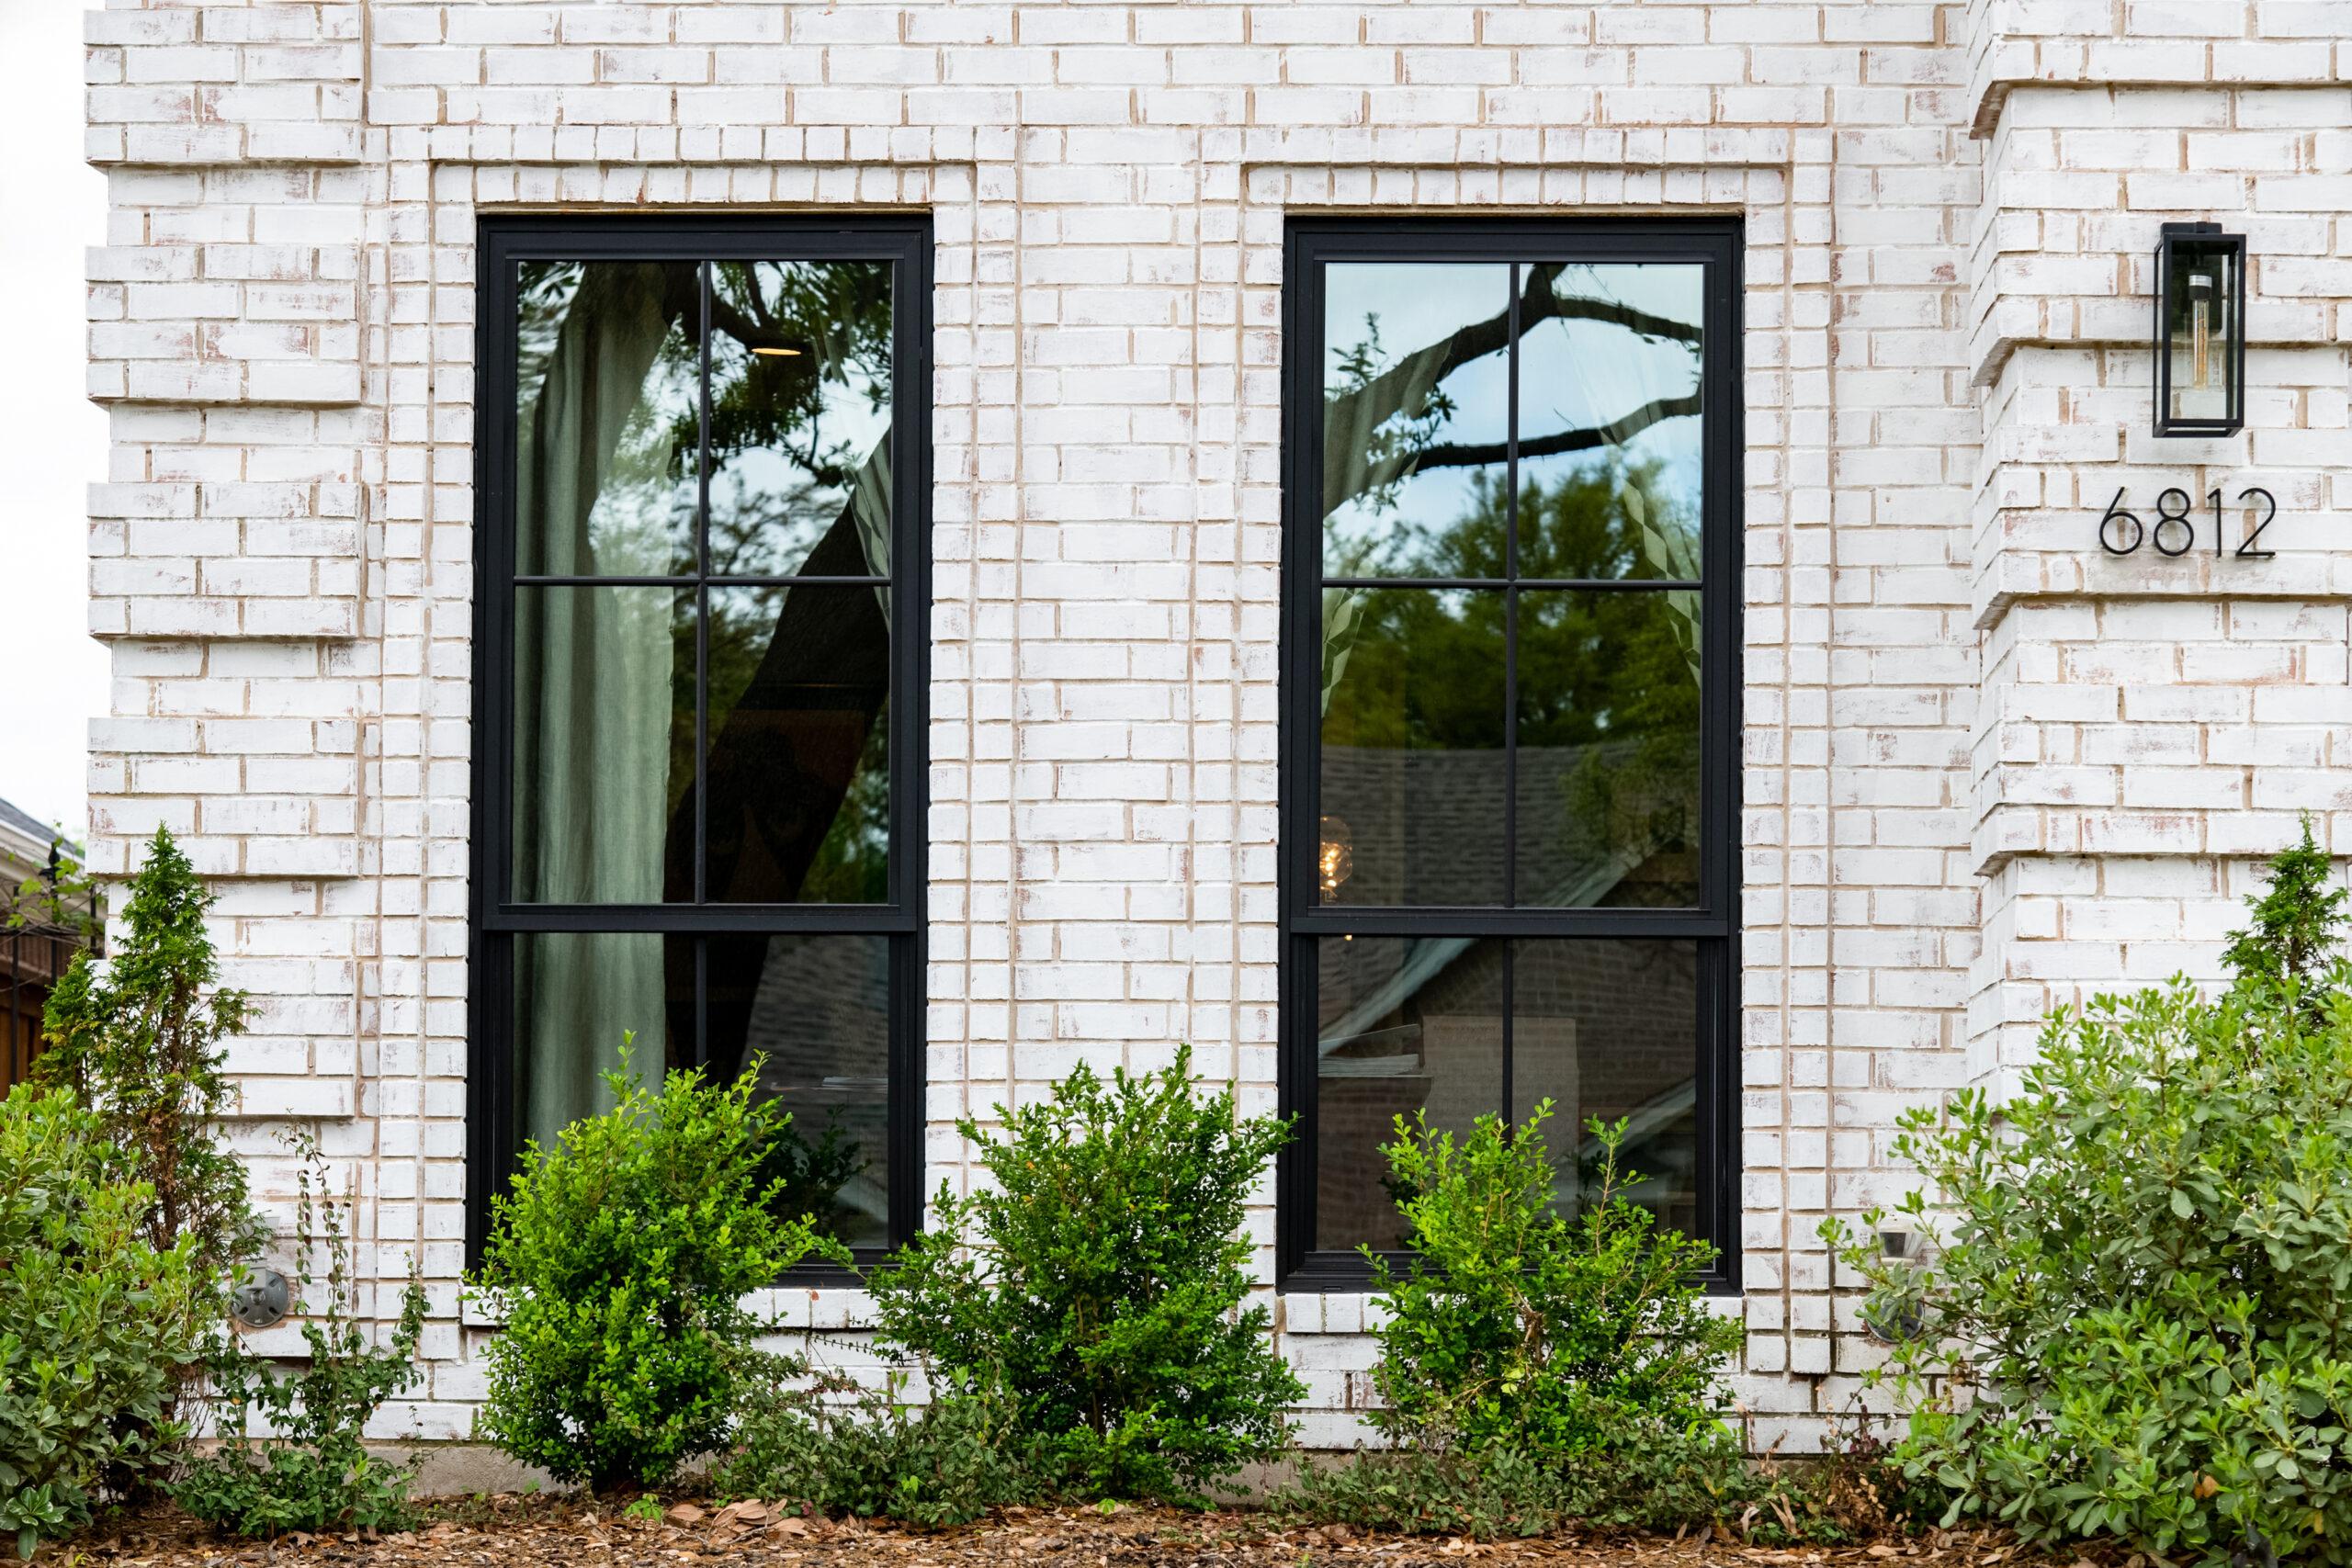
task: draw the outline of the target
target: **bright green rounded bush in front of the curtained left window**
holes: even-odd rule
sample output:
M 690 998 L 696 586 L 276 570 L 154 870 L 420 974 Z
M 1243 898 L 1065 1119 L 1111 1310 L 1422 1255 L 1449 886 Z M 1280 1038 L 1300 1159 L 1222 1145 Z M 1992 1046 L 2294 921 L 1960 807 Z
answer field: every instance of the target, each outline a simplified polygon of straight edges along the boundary
M 750 1342 L 774 1328 L 743 1295 L 811 1251 L 847 1251 L 779 1218 L 760 1161 L 783 1112 L 670 1072 L 659 1091 L 607 1074 L 616 1105 L 532 1145 L 492 1204 L 475 1293 L 503 1312 L 487 1347 L 480 1432 L 560 1481 L 659 1486 L 727 1443 Z

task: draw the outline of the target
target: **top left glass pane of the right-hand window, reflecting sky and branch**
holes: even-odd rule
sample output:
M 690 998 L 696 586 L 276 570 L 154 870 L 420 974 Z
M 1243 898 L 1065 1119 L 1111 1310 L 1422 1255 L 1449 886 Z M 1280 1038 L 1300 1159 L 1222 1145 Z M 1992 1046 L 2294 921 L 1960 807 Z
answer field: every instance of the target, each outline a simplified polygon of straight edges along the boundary
M 1324 268 L 1327 576 L 1501 576 L 1510 268 Z

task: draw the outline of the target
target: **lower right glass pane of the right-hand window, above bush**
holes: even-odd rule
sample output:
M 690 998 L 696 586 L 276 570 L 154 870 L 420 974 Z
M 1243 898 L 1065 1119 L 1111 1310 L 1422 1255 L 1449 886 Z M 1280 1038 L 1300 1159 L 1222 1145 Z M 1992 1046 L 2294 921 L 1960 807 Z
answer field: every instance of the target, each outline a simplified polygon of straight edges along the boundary
M 1585 1126 L 1625 1121 L 1628 1192 L 1698 1229 L 1698 943 L 1519 940 L 1510 954 L 1510 1100 L 1552 1103 L 1545 1143 L 1562 1199 L 1590 1197 L 1602 1154 Z

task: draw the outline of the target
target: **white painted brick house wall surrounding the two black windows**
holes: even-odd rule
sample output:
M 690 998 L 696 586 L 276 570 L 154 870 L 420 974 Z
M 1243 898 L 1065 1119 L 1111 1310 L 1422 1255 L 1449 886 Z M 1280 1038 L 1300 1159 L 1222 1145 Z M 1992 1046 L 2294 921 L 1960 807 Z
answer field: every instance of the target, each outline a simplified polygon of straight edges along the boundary
M 463 1436 L 473 230 L 936 223 L 927 1185 L 953 1119 L 1176 1039 L 1275 1098 L 1282 223 L 1745 221 L 1738 1392 L 1804 1443 L 1830 1211 L 2053 1001 L 2209 973 L 2298 809 L 2352 846 L 2345 0 L 336 0 L 89 16 L 94 844 L 221 879 L 235 1135 L 315 1119 L 421 1253 Z M 2086 31 L 2093 28 L 2093 31 Z M 2253 240 L 2251 430 L 2154 444 L 2147 252 Z M 2173 480 L 2173 475 L 2180 475 Z M 2279 559 L 2107 559 L 2260 482 Z M 2152 510 L 2152 508 L 2147 508 Z M 1268 1194 L 1270 1197 L 1270 1194 Z M 1270 1208 L 1254 1218 L 1270 1272 Z M 849 1328 L 854 1293 L 795 1293 Z M 1279 1298 L 1310 1436 L 1364 1302 Z

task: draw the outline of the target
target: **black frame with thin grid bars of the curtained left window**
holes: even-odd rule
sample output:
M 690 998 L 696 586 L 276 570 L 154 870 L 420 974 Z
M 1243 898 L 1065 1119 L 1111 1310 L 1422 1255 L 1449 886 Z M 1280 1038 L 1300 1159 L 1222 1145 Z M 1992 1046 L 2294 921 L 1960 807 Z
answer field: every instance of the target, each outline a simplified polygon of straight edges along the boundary
M 713 1013 L 741 1016 L 755 1006 L 736 980 L 715 976 L 715 952 L 729 952 L 760 973 L 821 980 L 830 990 L 811 1001 L 809 1030 L 866 1032 L 873 1056 L 887 1056 L 887 1150 L 873 1166 L 873 1208 L 887 1222 L 851 1248 L 873 1262 L 920 1225 L 920 1117 L 922 1117 L 922 856 L 915 830 L 922 823 L 922 719 L 929 661 L 920 637 L 929 597 L 922 538 L 922 503 L 929 491 L 929 223 L 922 219 L 837 221 L 670 221 L 670 219 L 499 219 L 485 221 L 480 244 L 482 315 L 477 364 L 482 367 L 477 433 L 477 637 L 475 637 L 475 835 L 473 835 L 473 969 L 468 990 L 468 1258 L 480 1258 L 489 1234 L 489 1199 L 506 1187 L 520 1159 L 520 1103 L 529 1063 L 517 1060 L 517 992 L 532 947 L 550 940 L 659 943 L 659 966 L 668 973 L 668 1030 L 687 1037 L 694 1065 L 710 1063 Z M 668 571 L 524 571 L 517 541 L 517 277 L 553 261 L 673 263 L 694 275 L 694 442 L 691 442 L 691 559 Z M 880 571 L 729 571 L 713 562 L 713 296 L 727 263 L 863 263 L 887 270 L 889 390 L 884 463 L 889 487 L 887 541 Z M 790 350 L 788 350 L 790 353 Z M 774 562 L 764 562 L 774 564 Z M 814 567 L 814 562 L 809 562 Z M 517 712 L 517 637 L 524 635 L 527 595 L 614 590 L 668 592 L 691 618 L 691 886 L 668 900 L 534 900 L 515 882 L 517 842 L 532 802 L 517 797 L 513 724 Z M 771 590 L 771 604 L 807 595 L 875 595 L 889 625 L 887 701 L 877 729 L 887 741 L 887 886 L 877 898 L 854 903 L 729 903 L 710 877 L 710 773 L 713 755 L 713 621 L 715 595 Z M 677 649 L 684 654 L 684 646 Z M 520 806 L 520 811 L 517 811 Z M 746 954 L 757 954 L 748 957 Z M 684 1006 L 680 1006 L 684 1001 Z M 828 1006 L 830 1004 L 830 1006 Z M 769 1011 L 774 1006 L 769 1004 Z M 847 1020 L 847 1023 L 844 1023 Z M 739 1025 L 741 1027 L 741 1025 Z M 675 1056 L 675 1044 L 673 1044 Z M 640 1063 L 659 1072 L 659 1063 Z M 675 1060 L 673 1060 L 675 1065 Z M 717 1063 L 731 1070 L 734 1063 Z M 795 1121 L 807 1119 L 795 1110 Z M 811 1143 L 816 1128 L 809 1128 Z M 809 1267 L 809 1284 L 851 1284 L 830 1265 Z

